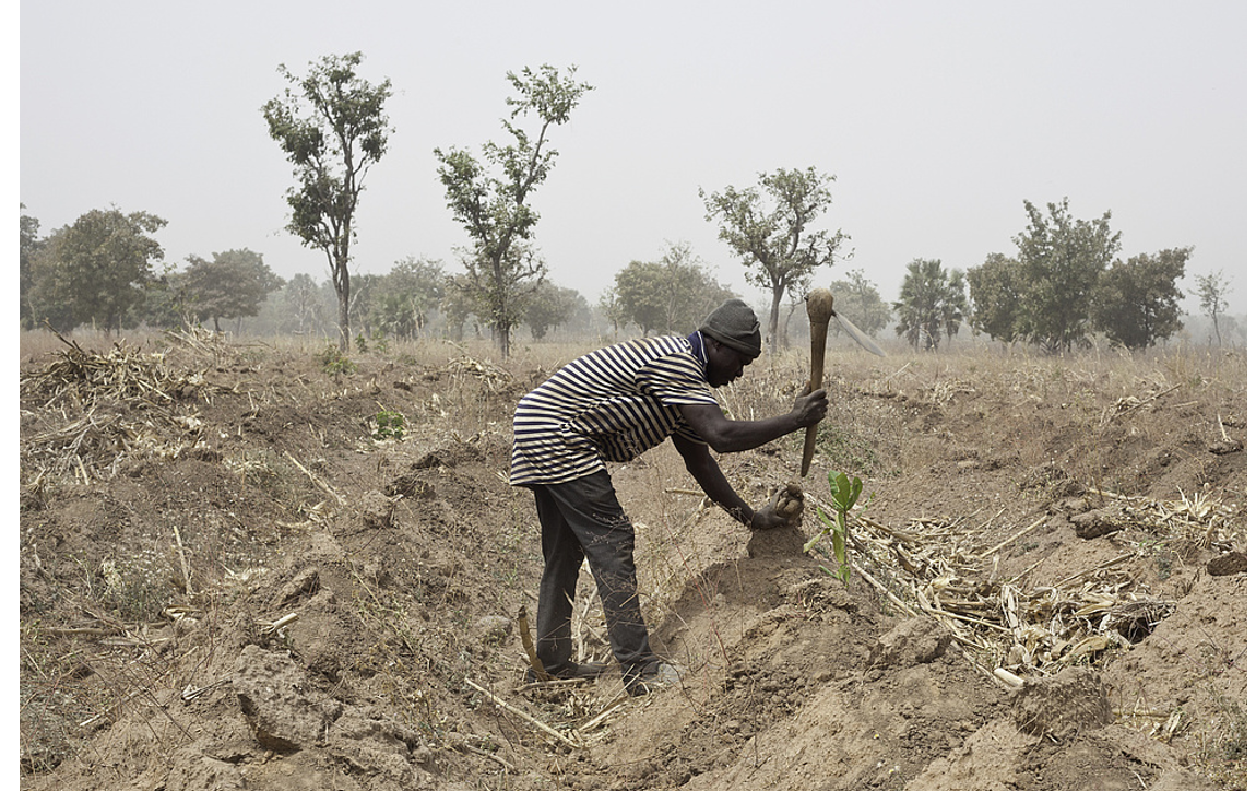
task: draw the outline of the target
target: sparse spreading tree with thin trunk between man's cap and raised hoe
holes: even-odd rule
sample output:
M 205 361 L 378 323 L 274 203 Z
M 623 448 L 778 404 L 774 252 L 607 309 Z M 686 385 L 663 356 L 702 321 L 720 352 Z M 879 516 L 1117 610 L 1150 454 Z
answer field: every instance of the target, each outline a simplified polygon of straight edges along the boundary
M 840 230 L 806 232 L 833 202 L 826 186 L 830 181 L 833 176 L 819 175 L 814 167 L 781 168 L 760 173 L 757 187 L 728 186 L 710 195 L 698 190 L 707 221 L 718 221 L 720 239 L 749 270 L 746 281 L 771 291 L 767 336 L 772 353 L 781 298 L 786 291 L 799 295 L 805 290 L 816 269 L 833 264 L 845 239 Z

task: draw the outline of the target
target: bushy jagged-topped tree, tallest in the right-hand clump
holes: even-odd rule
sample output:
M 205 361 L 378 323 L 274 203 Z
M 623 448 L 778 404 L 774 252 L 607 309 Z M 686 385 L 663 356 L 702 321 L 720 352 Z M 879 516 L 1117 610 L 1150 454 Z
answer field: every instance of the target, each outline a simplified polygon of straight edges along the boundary
M 1051 352 L 1071 349 L 1089 331 L 1091 299 L 1099 276 L 1120 250 L 1120 234 L 1098 220 L 1074 220 L 1069 200 L 1048 203 L 1046 215 L 1025 201 L 1029 227 L 1016 237 L 1020 250 L 1021 328 Z

